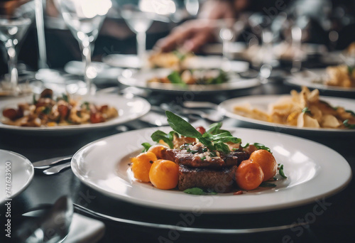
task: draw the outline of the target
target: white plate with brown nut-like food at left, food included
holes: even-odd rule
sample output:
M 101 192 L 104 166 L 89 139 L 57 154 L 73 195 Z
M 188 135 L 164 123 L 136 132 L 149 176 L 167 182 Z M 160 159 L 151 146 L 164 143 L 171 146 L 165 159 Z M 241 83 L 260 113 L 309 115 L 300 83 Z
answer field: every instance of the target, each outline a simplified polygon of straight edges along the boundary
M 0 129 L 21 133 L 72 134 L 107 129 L 148 113 L 146 99 L 119 95 L 73 97 L 46 89 L 33 97 L 7 99 L 0 104 Z

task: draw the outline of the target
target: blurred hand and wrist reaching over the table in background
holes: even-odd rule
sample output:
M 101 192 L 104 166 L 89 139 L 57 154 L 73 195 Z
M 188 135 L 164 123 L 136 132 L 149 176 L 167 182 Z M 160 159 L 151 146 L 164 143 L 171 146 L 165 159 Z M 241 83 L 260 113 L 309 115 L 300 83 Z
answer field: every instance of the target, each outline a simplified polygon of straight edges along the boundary
M 182 49 L 186 52 L 196 52 L 205 43 L 214 41 L 219 28 L 231 26 L 237 14 L 245 9 L 247 0 L 212 0 L 202 6 L 199 18 L 186 21 L 165 38 L 155 44 L 155 49 L 163 52 Z M 223 19 L 224 23 L 221 22 Z

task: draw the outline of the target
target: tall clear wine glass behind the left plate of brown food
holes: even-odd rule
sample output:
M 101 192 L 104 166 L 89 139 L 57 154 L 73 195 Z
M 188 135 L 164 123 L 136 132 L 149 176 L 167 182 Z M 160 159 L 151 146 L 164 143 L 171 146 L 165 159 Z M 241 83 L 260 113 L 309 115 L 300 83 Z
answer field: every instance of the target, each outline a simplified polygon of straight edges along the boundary
M 94 95 L 96 87 L 92 79 L 97 70 L 92 66 L 91 56 L 94 41 L 111 8 L 111 0 L 56 0 L 58 10 L 72 35 L 77 39 L 85 63 L 84 81 L 86 88 L 80 95 Z

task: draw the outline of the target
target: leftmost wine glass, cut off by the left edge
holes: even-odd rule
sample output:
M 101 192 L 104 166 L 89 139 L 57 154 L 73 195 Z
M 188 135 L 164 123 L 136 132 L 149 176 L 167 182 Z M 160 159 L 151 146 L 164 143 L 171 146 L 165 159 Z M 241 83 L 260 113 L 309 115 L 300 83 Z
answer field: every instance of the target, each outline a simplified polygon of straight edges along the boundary
M 33 1 L 0 2 L 0 42 L 4 44 L 9 67 L 9 73 L 1 80 L 1 87 L 11 95 L 21 92 L 18 87 L 17 49 L 33 17 Z

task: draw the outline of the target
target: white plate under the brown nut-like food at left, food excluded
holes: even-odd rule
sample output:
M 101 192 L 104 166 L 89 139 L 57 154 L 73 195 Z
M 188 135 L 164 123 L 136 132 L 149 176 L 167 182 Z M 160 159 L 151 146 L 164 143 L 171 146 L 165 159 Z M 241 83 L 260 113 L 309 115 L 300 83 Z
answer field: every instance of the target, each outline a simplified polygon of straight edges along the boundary
M 17 107 L 19 102 L 31 102 L 32 97 L 24 97 L 18 99 L 7 99 L 5 102 L 1 102 L 0 111 L 6 107 Z M 20 131 L 26 133 L 42 133 L 42 134 L 75 134 L 79 132 L 84 132 L 92 129 L 104 129 L 111 126 L 116 126 L 117 124 L 123 124 L 133 119 L 137 119 L 147 114 L 151 109 L 151 104 L 149 104 L 146 99 L 133 97 L 126 98 L 119 95 L 95 95 L 90 97 L 83 97 L 83 101 L 94 102 L 94 104 L 109 104 L 115 107 L 119 111 L 119 117 L 110 119 L 109 121 L 97 123 L 97 124 L 80 124 L 80 125 L 70 125 L 70 126 L 49 126 L 49 127 L 26 127 L 26 126 L 11 126 L 2 124 L 0 122 L 0 130 L 9 131 Z M 2 115 L 0 114 L 0 121 Z

